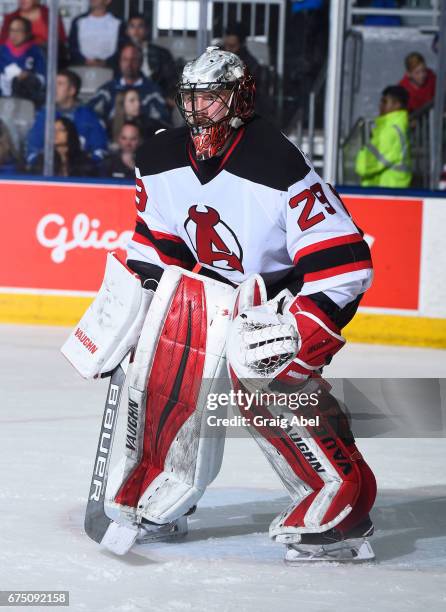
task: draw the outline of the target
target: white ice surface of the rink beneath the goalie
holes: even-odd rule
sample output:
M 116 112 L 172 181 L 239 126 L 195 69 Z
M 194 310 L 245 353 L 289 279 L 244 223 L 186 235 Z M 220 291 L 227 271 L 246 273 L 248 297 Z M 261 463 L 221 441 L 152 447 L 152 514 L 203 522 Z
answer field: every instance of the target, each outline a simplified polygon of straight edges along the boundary
M 445 612 L 444 438 L 360 441 L 379 485 L 376 564 L 286 567 L 267 530 L 287 496 L 249 438 L 227 441 L 185 542 L 116 558 L 82 528 L 107 383 L 63 360 L 67 330 L 0 333 L 0 589 L 69 590 L 87 612 Z M 327 375 L 445 372 L 444 351 L 350 345 Z

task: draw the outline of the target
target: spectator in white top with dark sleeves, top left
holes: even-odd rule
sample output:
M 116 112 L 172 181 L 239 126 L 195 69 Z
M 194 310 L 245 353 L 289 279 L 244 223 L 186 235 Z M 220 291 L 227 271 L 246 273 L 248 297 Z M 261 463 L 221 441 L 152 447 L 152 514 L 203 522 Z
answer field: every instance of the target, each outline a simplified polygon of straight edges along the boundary
M 111 0 L 90 0 L 90 10 L 71 24 L 71 63 L 115 67 L 122 22 L 107 9 Z

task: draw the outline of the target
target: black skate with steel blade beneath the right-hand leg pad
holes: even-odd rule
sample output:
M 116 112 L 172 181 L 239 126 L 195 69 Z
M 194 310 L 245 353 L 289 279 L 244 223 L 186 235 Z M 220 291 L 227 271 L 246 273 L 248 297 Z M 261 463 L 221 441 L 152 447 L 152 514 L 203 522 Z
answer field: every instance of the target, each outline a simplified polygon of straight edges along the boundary
M 342 535 L 336 529 L 323 533 L 302 534 L 299 543 L 288 544 L 285 563 L 335 561 L 337 563 L 364 563 L 375 558 L 367 537 L 373 534 L 373 523 L 370 518 Z

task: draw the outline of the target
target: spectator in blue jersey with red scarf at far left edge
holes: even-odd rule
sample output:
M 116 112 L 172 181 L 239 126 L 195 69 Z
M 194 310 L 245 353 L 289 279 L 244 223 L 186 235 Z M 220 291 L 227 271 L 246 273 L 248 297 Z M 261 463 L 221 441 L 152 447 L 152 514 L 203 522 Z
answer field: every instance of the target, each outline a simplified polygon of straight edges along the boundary
M 9 23 L 8 38 L 0 45 L 0 89 L 3 96 L 17 96 L 43 103 L 45 59 L 32 40 L 31 22 L 15 17 Z

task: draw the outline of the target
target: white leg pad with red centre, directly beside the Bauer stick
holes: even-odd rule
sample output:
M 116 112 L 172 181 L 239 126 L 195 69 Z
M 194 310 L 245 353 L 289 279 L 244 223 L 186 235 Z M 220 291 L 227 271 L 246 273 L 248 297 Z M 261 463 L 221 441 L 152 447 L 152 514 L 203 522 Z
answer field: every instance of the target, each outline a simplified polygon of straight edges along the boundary
M 171 266 L 141 333 L 129 388 L 126 456 L 107 491 L 107 514 L 165 524 L 183 516 L 217 475 L 224 429 L 209 393 L 227 391 L 228 285 Z

